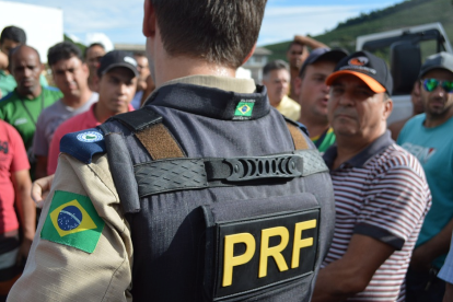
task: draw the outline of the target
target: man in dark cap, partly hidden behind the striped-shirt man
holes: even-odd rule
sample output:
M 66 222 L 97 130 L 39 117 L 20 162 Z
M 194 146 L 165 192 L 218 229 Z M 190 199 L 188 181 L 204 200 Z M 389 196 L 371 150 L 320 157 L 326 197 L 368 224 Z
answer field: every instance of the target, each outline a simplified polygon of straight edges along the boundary
M 306 127 L 310 139 L 322 153 L 335 142 L 335 133 L 327 119 L 329 86 L 325 81 L 346 56 L 340 49 L 314 49 L 302 65 L 294 82 L 298 102 L 302 106 L 299 121 Z

